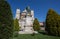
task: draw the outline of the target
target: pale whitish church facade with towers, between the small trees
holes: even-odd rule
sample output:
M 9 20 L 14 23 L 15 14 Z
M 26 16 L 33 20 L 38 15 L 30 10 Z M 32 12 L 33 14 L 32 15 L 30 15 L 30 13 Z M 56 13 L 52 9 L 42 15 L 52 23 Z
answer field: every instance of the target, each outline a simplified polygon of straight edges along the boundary
M 16 19 L 18 19 L 20 31 L 19 34 L 33 33 L 34 11 L 26 7 L 24 11 L 16 10 Z

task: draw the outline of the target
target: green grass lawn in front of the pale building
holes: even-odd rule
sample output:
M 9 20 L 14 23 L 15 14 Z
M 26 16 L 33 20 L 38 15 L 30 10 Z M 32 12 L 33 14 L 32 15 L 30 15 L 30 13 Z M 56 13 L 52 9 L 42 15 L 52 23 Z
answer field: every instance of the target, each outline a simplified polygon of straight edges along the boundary
M 13 39 L 60 39 L 60 37 L 43 34 L 35 34 L 34 36 L 31 34 L 20 34 L 18 37 L 14 37 Z

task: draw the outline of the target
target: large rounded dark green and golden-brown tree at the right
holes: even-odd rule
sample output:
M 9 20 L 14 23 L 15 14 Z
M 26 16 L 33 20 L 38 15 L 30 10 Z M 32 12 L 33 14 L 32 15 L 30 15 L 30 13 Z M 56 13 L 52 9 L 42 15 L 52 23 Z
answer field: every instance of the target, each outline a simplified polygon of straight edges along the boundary
M 58 14 L 53 10 L 49 9 L 46 17 L 46 31 L 48 34 L 58 36 Z

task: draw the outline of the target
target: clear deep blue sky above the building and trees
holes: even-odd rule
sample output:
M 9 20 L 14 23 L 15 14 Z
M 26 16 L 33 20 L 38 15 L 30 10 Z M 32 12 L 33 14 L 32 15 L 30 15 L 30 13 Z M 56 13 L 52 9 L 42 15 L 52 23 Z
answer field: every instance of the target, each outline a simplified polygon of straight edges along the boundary
M 50 8 L 60 14 L 60 0 L 7 0 L 11 6 L 13 17 L 16 9 L 23 11 L 27 6 L 34 10 L 34 17 L 40 22 L 45 21 L 47 12 Z

